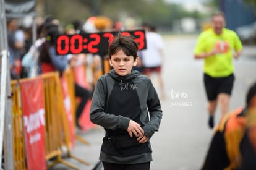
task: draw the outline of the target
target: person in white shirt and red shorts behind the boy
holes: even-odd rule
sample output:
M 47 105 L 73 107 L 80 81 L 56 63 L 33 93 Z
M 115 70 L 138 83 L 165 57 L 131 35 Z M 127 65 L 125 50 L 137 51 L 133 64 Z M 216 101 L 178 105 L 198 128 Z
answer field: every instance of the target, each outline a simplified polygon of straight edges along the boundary
M 139 53 L 142 62 L 142 74 L 152 78 L 153 73 L 156 73 L 161 97 L 164 98 L 164 84 L 161 75 L 164 59 L 164 41 L 161 35 L 156 33 L 156 28 L 153 25 L 143 23 L 142 28 L 145 29 L 147 41 L 147 49 Z

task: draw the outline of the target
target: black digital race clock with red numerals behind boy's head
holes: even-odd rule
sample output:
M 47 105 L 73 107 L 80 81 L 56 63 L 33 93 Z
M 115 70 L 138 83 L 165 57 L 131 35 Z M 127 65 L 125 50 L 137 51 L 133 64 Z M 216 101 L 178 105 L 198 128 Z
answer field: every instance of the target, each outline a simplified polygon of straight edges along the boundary
M 85 33 L 59 35 L 56 38 L 56 54 L 108 54 L 109 44 L 119 32 Z M 122 35 L 132 35 L 139 45 L 139 50 L 147 49 L 145 30 L 129 30 Z

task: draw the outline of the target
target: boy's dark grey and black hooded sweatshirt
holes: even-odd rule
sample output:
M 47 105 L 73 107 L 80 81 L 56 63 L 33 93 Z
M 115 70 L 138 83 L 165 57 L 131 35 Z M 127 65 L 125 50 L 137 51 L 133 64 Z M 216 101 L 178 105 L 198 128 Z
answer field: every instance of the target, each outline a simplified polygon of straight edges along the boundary
M 161 105 L 151 80 L 137 71 L 121 77 L 111 70 L 102 75 L 92 98 L 90 119 L 106 130 L 100 160 L 108 163 L 134 164 L 152 161 L 150 142 L 129 148 L 117 148 L 113 138 L 129 136 L 130 119 L 142 125 L 150 139 L 158 131 Z

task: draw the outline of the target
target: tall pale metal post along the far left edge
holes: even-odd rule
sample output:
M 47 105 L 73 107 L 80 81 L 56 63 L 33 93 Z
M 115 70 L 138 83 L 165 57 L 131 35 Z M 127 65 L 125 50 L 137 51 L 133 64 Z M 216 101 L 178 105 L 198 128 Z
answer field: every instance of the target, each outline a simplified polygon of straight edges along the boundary
M 4 169 L 14 169 L 14 150 L 12 138 L 11 77 L 9 51 L 7 45 L 6 11 L 4 0 L 0 0 L 0 161 L 4 144 Z M 1 163 L 2 164 L 2 163 Z

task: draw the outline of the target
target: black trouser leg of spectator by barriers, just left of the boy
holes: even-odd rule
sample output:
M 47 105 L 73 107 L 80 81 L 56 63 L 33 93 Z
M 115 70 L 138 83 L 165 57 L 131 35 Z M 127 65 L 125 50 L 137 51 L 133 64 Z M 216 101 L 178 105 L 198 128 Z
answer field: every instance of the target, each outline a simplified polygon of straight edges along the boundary
M 75 96 L 79 96 L 81 98 L 81 101 L 79 103 L 79 106 L 77 106 L 77 110 L 75 113 L 76 119 L 78 120 L 83 112 L 83 108 L 85 107 L 88 99 L 92 98 L 92 93 L 86 88 L 83 88 L 75 83 Z

